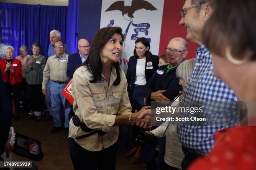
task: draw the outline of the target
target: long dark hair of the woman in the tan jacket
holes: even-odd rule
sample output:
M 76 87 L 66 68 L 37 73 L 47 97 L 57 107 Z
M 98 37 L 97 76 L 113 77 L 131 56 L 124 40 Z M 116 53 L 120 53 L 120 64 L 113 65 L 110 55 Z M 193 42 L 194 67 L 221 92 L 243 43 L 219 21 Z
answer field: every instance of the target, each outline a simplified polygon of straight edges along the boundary
M 110 40 L 110 38 L 113 37 L 114 34 L 121 35 L 123 40 L 122 31 L 123 30 L 120 27 L 105 27 L 105 28 L 101 28 L 95 33 L 92 39 L 89 56 L 83 64 L 83 65 L 86 65 L 92 72 L 92 80 L 90 80 L 90 82 L 93 83 L 93 82 L 97 82 L 98 80 L 101 80 L 103 63 L 100 59 L 100 51 L 102 50 L 103 46 Z M 116 75 L 117 75 L 113 84 L 119 85 L 121 81 L 120 64 L 119 62 L 114 62 L 112 66 L 115 67 Z

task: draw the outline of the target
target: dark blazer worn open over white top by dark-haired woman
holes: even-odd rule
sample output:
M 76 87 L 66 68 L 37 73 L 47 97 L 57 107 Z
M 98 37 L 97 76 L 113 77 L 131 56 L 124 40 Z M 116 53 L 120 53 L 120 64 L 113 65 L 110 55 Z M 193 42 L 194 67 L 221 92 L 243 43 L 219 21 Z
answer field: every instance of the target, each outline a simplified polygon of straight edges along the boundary
M 137 65 L 137 59 L 136 57 L 132 56 L 129 59 L 128 62 L 128 69 L 126 73 L 126 79 L 127 79 L 127 91 L 128 95 L 131 95 L 131 92 L 133 91 L 134 82 L 136 79 L 136 65 Z M 152 63 L 152 65 L 150 65 Z M 149 67 L 147 67 L 147 64 Z M 151 55 L 148 59 L 146 59 L 146 65 L 145 65 L 145 77 L 146 81 L 151 78 L 151 76 L 156 72 L 159 64 L 159 57 L 157 55 Z

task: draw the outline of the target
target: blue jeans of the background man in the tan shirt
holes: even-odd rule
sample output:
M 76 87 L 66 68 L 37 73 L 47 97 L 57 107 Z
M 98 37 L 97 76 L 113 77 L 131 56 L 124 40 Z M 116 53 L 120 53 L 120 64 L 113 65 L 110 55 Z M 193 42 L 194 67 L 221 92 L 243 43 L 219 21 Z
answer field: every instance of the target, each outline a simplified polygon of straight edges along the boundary
M 66 98 L 61 94 L 61 91 L 64 89 L 67 83 L 59 84 L 50 80 L 50 90 L 51 90 L 51 110 L 53 111 L 54 117 L 54 126 L 61 127 L 61 103 L 64 106 L 65 112 L 65 128 L 69 127 L 69 112 L 71 110 L 70 105 L 65 107 Z

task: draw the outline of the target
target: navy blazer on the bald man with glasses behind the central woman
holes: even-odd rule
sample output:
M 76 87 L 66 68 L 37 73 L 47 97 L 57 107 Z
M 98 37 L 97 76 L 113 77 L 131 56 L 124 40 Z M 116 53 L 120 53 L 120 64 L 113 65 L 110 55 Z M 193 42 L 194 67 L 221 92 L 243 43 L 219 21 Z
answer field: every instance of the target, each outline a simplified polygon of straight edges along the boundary
M 79 52 L 69 55 L 67 64 L 67 76 L 69 79 L 73 78 L 75 70 L 82 65 L 82 60 Z

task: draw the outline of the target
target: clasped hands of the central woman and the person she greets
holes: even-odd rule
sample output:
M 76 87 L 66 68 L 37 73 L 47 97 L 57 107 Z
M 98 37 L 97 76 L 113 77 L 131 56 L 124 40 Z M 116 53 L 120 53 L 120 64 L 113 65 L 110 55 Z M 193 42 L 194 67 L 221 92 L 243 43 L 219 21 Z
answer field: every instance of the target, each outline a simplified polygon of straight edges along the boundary
M 151 128 L 151 106 L 142 107 L 140 111 L 132 114 L 132 119 L 133 118 L 136 120 L 134 124 L 137 126 L 144 129 Z

